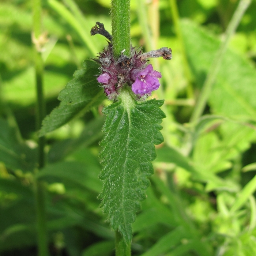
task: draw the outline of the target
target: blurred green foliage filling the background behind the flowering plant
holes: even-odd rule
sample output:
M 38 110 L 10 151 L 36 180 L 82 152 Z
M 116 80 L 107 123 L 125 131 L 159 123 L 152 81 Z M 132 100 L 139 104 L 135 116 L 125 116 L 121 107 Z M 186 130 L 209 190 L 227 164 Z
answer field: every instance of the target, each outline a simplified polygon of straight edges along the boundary
M 256 1 L 231 39 L 207 108 L 196 122 L 189 122 L 196 99 L 238 1 L 177 1 L 185 59 L 174 29 L 172 2 L 131 0 L 132 44 L 143 45 L 145 50 L 173 49 L 171 61 L 152 60 L 163 75 L 153 97 L 165 99 L 165 142 L 158 146 L 147 200 L 133 224 L 132 252 L 253 256 Z M 106 45 L 103 37 L 90 37 L 89 32 L 96 21 L 110 31 L 110 1 L 45 0 L 43 8 L 42 22 L 48 33 L 44 87 L 50 113 L 59 105 L 60 90 L 84 67 L 83 60 Z M 0 255 L 36 255 L 35 180 L 47 185 L 52 255 L 113 255 L 114 233 L 97 199 L 102 189 L 98 179 L 101 109 L 109 102 L 102 97 L 90 108 L 84 103 L 78 109 L 83 116 L 48 133 L 48 165 L 35 173 L 31 30 L 31 1 L 0 1 Z M 89 97 L 97 94 L 90 92 Z

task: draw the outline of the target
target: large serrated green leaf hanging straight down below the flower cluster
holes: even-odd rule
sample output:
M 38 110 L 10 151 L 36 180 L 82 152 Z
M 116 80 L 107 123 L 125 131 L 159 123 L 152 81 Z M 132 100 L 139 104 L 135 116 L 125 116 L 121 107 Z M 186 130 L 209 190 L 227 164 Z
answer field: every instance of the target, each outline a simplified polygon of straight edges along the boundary
M 163 141 L 159 132 L 165 117 L 159 108 L 162 104 L 155 99 L 137 103 L 123 91 L 119 102 L 103 109 L 106 137 L 101 142 L 101 157 L 105 167 L 99 176 L 104 180 L 100 198 L 112 229 L 119 230 L 127 243 L 140 201 L 146 197 L 147 177 L 153 174 L 154 144 Z

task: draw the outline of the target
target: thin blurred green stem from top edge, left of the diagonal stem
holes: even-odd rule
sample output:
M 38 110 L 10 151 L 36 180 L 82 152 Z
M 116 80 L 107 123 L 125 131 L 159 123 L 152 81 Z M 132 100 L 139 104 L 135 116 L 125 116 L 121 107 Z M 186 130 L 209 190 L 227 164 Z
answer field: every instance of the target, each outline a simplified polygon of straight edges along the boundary
M 190 66 L 188 63 L 188 58 L 187 58 L 187 54 L 186 54 L 186 50 L 185 50 L 185 46 L 184 46 L 184 40 L 183 40 L 183 35 L 182 35 L 182 31 L 181 31 L 181 26 L 180 26 L 180 16 L 179 16 L 176 0 L 170 0 L 170 5 L 171 5 L 174 29 L 175 29 L 175 32 L 176 32 L 176 35 L 177 35 L 177 38 L 179 41 L 179 45 L 180 45 L 180 50 L 181 50 L 184 75 L 188 81 L 187 95 L 189 98 L 193 98 L 193 89 L 192 89 L 193 76 L 192 76 L 192 72 L 191 72 L 191 69 L 190 69 Z

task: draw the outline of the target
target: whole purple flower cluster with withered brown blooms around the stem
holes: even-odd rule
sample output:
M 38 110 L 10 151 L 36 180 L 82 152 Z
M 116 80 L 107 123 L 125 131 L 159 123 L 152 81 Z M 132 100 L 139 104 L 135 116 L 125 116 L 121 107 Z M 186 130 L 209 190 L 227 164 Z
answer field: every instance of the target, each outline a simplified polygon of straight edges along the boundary
M 101 75 L 97 80 L 102 84 L 104 91 L 109 99 L 115 99 L 118 90 L 128 84 L 131 86 L 133 93 L 142 97 L 151 95 L 151 92 L 157 90 L 160 86 L 158 81 L 161 73 L 155 71 L 151 64 L 147 64 L 150 57 L 163 57 L 163 59 L 172 59 L 172 50 L 162 47 L 158 50 L 142 53 L 142 50 L 131 48 L 131 56 L 126 56 L 122 52 L 118 59 L 112 54 L 112 36 L 104 29 L 102 23 L 97 22 L 96 26 L 91 29 L 91 35 L 101 34 L 109 39 L 109 45 L 99 53 L 95 61 L 100 64 Z

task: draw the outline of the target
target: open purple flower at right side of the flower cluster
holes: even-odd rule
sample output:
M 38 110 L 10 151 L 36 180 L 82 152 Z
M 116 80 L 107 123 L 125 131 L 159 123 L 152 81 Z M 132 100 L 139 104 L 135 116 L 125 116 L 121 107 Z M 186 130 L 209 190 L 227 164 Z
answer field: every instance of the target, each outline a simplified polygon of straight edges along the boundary
M 135 82 L 132 84 L 132 91 L 135 94 L 148 94 L 157 90 L 160 86 L 158 78 L 161 78 L 160 72 L 153 70 L 151 64 L 144 69 L 133 69 L 131 79 Z

